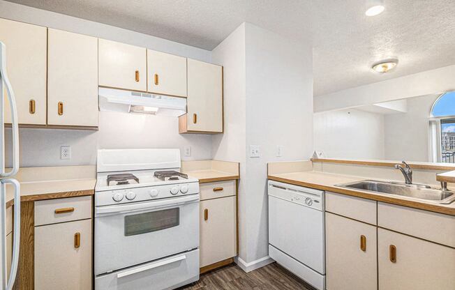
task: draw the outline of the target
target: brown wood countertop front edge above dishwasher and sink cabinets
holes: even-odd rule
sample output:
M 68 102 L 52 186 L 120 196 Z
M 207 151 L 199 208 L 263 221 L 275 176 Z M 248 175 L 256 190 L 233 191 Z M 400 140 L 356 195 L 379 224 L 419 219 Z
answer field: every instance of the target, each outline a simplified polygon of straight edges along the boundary
M 417 208 L 417 209 L 421 209 L 424 211 L 432 211 L 434 213 L 443 213 L 445 215 L 455 215 L 455 208 L 449 208 L 447 206 L 439 206 L 438 204 L 424 204 L 419 201 L 410 201 L 407 199 L 399 199 L 399 198 L 393 198 L 393 197 L 383 197 L 382 195 L 368 193 L 368 192 L 361 192 L 361 191 L 357 191 L 357 190 L 348 190 L 345 188 L 337 188 L 335 186 L 320 185 L 317 183 L 306 183 L 304 181 L 295 181 L 292 179 L 281 178 L 281 177 L 271 176 L 271 175 L 267 176 L 267 178 L 269 178 L 272 181 L 280 181 L 283 183 L 290 183 L 293 185 L 300 185 L 300 186 L 305 186 L 308 188 L 315 188 L 318 190 L 327 190 L 330 192 L 350 195 L 352 197 L 361 197 L 364 199 L 382 201 L 387 204 L 396 204 L 398 206 L 408 206 L 410 208 Z

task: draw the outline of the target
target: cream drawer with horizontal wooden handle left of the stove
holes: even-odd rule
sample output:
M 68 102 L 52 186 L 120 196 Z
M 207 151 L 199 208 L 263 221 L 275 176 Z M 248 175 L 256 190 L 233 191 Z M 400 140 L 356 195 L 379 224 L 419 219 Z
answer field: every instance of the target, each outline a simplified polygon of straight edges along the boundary
M 91 196 L 35 201 L 35 226 L 91 218 Z

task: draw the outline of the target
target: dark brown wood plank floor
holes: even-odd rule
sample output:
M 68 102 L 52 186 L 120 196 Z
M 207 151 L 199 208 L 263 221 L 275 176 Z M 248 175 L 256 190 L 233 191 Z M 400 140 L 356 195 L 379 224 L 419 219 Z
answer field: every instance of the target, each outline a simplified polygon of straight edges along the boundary
M 194 286 L 179 290 L 313 290 L 299 277 L 276 263 L 245 273 L 232 264 L 204 273 Z

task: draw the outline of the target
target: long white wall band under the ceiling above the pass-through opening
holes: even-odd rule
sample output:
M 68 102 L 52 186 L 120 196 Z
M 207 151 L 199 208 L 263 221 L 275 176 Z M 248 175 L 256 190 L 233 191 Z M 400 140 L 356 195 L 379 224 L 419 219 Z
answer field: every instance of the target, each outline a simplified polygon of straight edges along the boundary
M 399 65 L 398 65 L 399 66 Z M 455 89 L 455 65 L 315 97 L 314 112 L 426 96 Z

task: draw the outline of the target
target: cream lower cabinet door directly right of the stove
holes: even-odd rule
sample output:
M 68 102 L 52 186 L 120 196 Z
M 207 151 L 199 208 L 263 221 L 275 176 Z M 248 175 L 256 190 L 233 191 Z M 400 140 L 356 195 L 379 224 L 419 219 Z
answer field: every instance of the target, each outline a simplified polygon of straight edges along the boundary
M 237 255 L 235 197 L 200 201 L 200 266 Z

